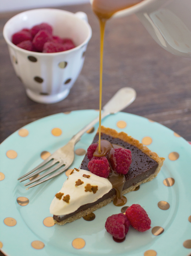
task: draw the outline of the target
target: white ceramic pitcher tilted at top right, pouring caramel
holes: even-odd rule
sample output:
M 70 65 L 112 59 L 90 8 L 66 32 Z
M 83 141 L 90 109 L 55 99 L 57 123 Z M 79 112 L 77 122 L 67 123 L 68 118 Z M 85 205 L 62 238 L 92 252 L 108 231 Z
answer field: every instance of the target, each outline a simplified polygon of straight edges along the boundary
M 90 0 L 91 3 L 94 0 Z M 104 0 L 103 0 L 104 1 Z M 154 40 L 171 53 L 191 58 L 191 0 L 143 0 L 112 18 L 135 13 Z

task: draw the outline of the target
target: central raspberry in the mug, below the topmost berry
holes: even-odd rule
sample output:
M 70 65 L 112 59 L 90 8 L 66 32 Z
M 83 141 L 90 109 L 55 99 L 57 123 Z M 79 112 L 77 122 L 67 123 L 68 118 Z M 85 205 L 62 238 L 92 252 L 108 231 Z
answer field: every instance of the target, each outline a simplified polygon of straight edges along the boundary
M 46 30 L 40 30 L 33 38 L 32 43 L 38 51 L 42 52 L 44 44 L 46 42 L 51 42 L 52 40 L 52 35 L 49 32 Z

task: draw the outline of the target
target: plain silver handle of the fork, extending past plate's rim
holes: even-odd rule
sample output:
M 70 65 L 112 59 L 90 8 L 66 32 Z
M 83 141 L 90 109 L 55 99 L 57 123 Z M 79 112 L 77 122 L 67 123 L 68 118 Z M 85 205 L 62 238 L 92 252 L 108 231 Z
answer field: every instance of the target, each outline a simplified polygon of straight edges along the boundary
M 136 91 L 130 87 L 121 88 L 116 92 L 116 94 L 105 104 L 103 107 L 103 112 L 101 119 L 108 116 L 109 114 L 117 113 L 125 107 L 129 106 L 136 98 Z M 99 116 L 96 117 L 91 123 L 87 124 L 83 129 L 81 129 L 77 134 L 75 134 L 71 141 L 76 144 L 81 138 L 81 136 L 88 129 L 92 128 L 99 121 Z

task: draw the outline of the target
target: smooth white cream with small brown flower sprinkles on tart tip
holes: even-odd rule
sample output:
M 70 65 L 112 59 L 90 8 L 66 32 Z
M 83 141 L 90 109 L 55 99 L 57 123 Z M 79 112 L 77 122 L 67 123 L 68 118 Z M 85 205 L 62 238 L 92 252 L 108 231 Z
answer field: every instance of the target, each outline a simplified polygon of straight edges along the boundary
M 52 200 L 50 213 L 53 215 L 73 213 L 80 206 L 97 201 L 111 189 L 112 184 L 107 178 L 83 169 L 73 170 Z

